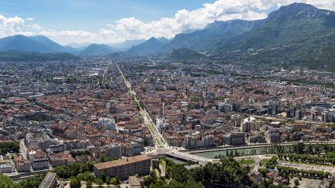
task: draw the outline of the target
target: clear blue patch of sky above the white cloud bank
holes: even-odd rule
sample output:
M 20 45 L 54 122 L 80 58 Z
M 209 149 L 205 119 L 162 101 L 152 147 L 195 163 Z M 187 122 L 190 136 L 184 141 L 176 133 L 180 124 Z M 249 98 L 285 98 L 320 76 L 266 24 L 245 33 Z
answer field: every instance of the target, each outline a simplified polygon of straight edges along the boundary
M 29 2 L 29 3 L 27 3 Z M 99 31 L 123 17 L 144 22 L 172 17 L 177 10 L 193 10 L 214 0 L 20 0 L 0 1 L 0 15 L 34 17 L 43 27 L 57 30 Z M 6 8 L 4 8 L 6 7 Z

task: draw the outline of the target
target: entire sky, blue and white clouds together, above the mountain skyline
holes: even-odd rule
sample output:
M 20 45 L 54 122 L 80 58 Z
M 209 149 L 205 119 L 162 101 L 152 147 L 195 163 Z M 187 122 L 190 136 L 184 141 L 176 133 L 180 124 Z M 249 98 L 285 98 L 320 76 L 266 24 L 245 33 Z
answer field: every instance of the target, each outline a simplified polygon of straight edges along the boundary
M 295 0 L 335 9 L 335 0 Z M 44 35 L 61 43 L 172 38 L 215 20 L 258 20 L 292 0 L 0 0 L 0 37 Z

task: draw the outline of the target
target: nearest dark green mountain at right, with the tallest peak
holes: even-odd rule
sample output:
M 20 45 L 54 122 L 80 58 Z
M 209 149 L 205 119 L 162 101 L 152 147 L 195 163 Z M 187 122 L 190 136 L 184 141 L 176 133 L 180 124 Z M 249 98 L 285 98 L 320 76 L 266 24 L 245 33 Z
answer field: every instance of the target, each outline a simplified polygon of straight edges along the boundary
M 335 13 L 293 3 L 270 13 L 260 27 L 225 41 L 217 52 L 240 50 L 262 62 L 335 71 Z

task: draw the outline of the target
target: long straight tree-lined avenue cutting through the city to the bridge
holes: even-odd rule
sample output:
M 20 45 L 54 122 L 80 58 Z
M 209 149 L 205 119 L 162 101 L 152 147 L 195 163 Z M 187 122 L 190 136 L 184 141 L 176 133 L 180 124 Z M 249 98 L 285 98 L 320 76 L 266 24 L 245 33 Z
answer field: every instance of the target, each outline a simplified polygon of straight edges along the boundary
M 142 115 L 142 117 L 144 118 L 144 124 L 147 126 L 151 135 L 153 136 L 154 143 L 155 143 L 155 148 L 156 149 L 168 148 L 169 145 L 164 140 L 161 132 L 158 131 L 158 128 L 157 128 L 156 124 L 154 124 L 154 122 L 152 121 L 151 117 L 147 113 L 147 110 L 145 110 L 145 108 L 142 108 L 142 106 L 140 106 L 140 101 L 137 99 L 137 95 L 136 95 L 135 91 L 132 89 L 131 83 L 126 79 L 126 77 L 124 76 L 124 73 L 121 71 L 121 68 L 119 68 L 119 65 L 117 65 L 116 62 L 114 62 L 114 64 L 119 69 L 119 72 L 120 72 L 122 78 L 124 79 L 124 83 L 125 83 L 126 87 L 128 87 L 128 90 L 131 93 L 131 95 L 133 96 L 133 99 L 134 99 L 135 103 L 139 107 L 140 115 Z

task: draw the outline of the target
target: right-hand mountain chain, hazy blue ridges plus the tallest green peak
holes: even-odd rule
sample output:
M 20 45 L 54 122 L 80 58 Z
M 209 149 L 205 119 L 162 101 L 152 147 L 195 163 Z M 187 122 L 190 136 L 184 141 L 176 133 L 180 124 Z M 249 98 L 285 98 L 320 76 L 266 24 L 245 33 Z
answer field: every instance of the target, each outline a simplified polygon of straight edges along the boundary
M 204 29 L 178 34 L 156 53 L 179 48 L 202 51 L 207 56 L 228 52 L 257 62 L 285 62 L 335 71 L 335 12 L 292 3 L 263 20 L 217 21 Z

